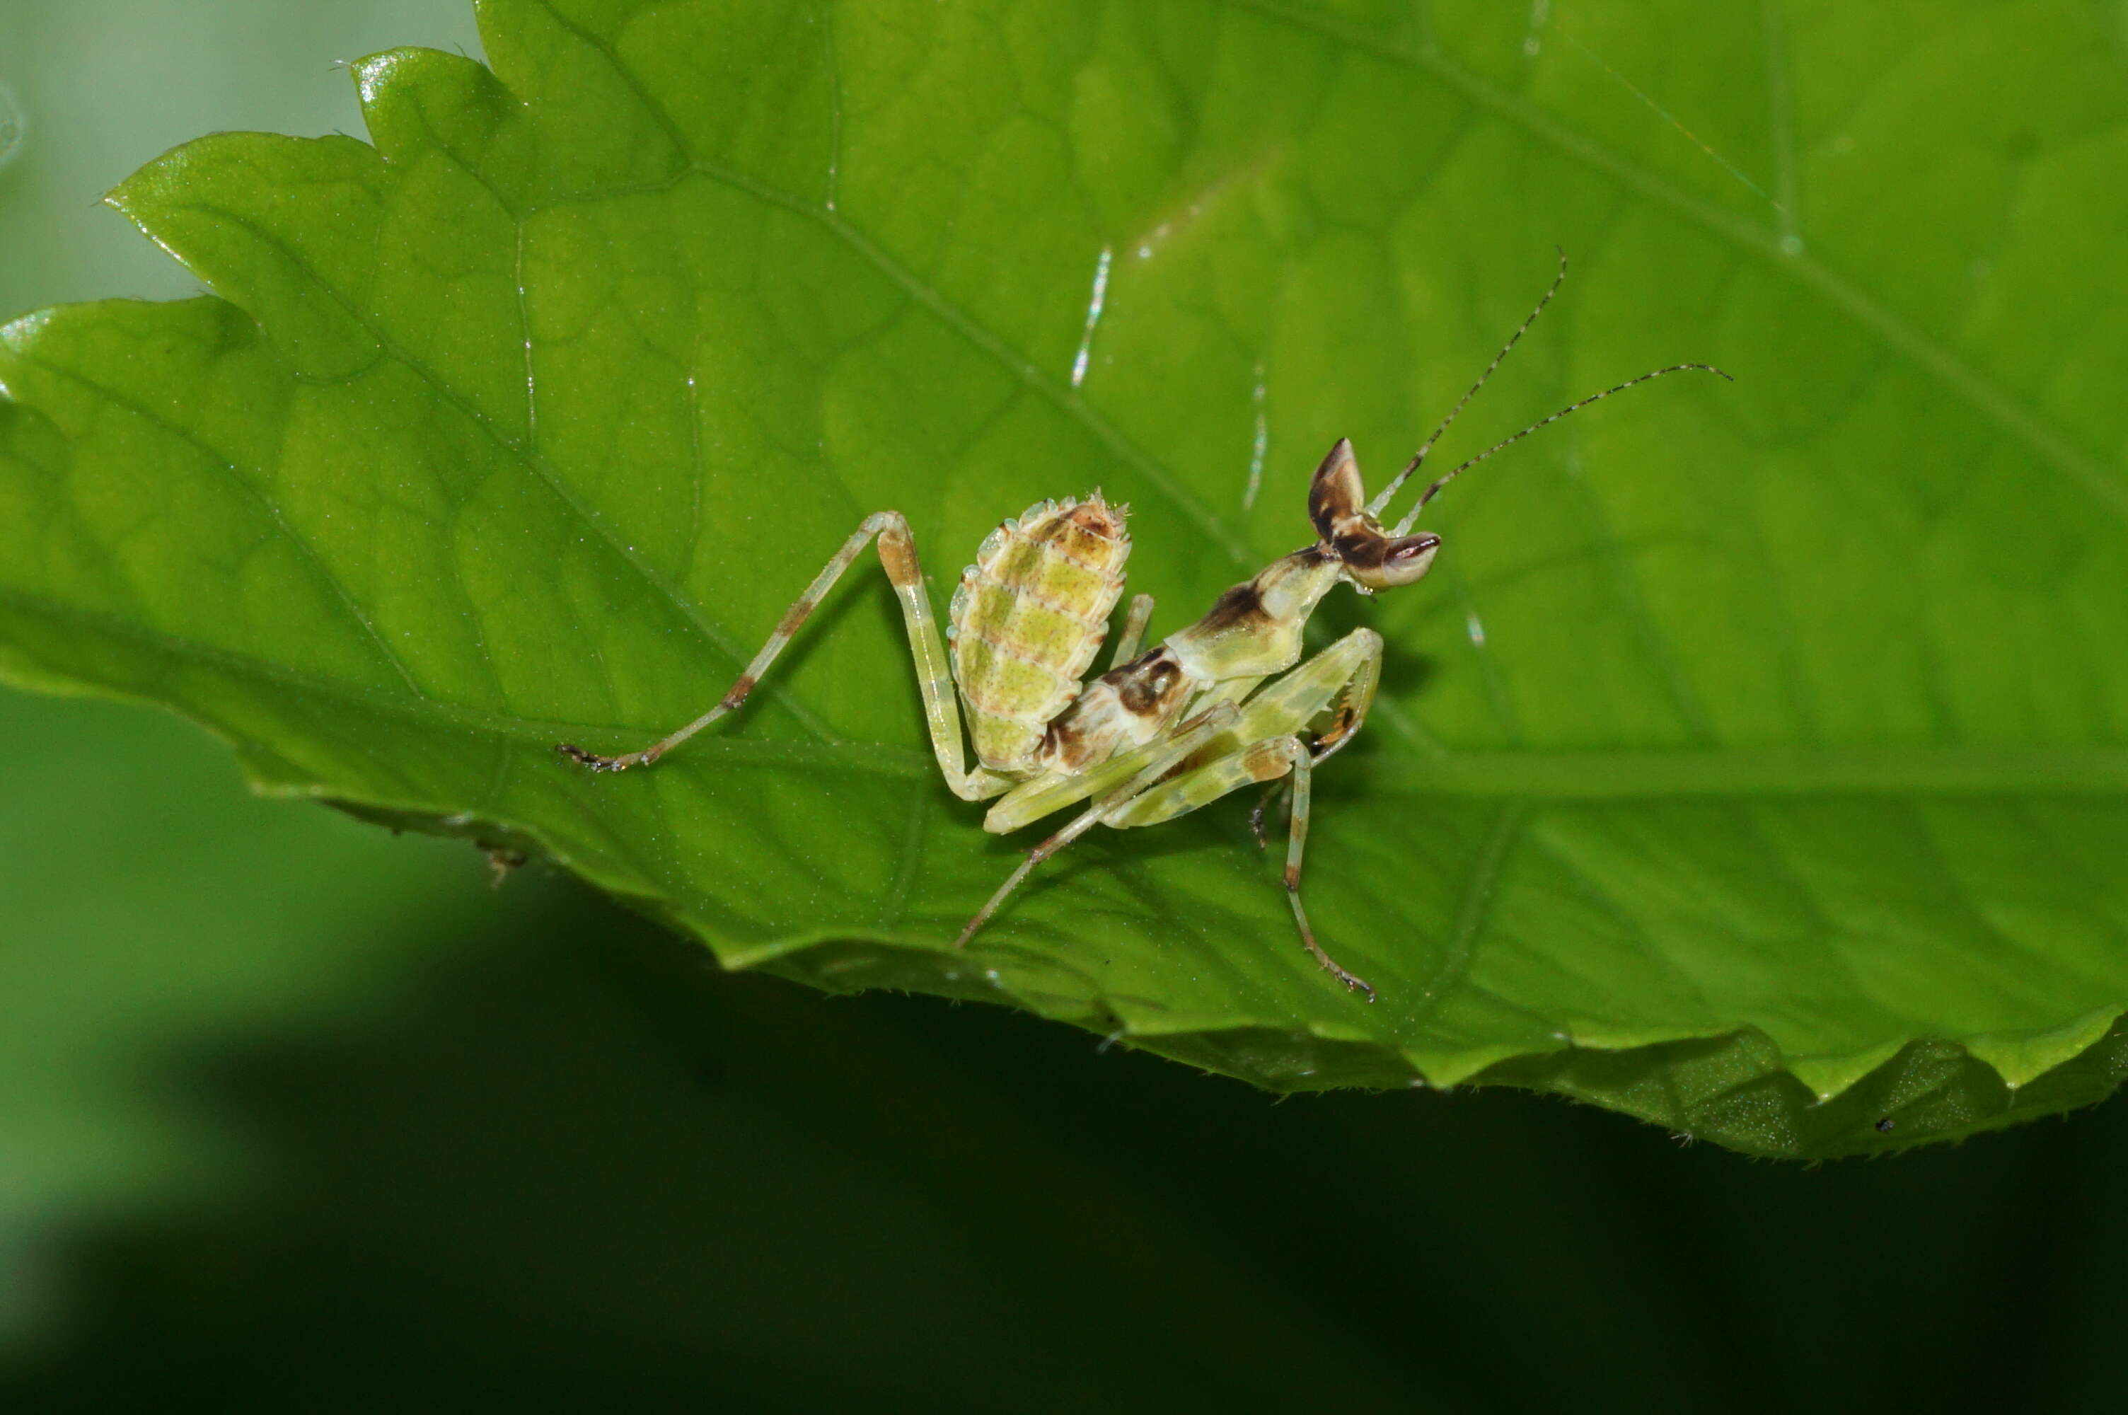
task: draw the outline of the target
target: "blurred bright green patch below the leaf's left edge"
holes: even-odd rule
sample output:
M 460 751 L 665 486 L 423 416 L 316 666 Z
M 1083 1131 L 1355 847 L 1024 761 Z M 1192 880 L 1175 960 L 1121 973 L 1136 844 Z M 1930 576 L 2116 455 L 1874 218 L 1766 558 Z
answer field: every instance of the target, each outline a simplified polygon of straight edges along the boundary
M 496 913 L 477 862 L 251 800 L 160 713 L 4 692 L 0 732 L 4 1351 L 55 1211 L 226 1181 L 243 1143 L 183 1096 L 183 1041 L 351 1028 Z

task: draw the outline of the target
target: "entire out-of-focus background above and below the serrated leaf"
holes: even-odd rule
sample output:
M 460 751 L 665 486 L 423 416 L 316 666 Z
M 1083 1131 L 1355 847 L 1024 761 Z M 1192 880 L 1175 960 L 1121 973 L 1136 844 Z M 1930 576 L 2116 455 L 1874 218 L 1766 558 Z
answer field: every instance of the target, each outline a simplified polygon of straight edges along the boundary
M 464 0 L 0 0 L 0 317 L 196 289 L 96 198 L 360 134 Z M 0 115 L 0 145 L 9 140 Z M 1509 1092 L 1275 1104 L 830 1000 L 0 696 L 0 1409 L 2113 1409 L 2117 1104 L 1794 1168 Z

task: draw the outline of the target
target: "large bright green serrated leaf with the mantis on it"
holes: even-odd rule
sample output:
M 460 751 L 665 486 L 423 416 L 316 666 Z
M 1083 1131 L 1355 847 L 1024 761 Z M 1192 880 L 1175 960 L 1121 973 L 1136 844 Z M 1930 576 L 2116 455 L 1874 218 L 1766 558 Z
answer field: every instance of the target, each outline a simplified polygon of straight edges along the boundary
M 115 202 L 221 296 L 0 338 L 0 670 L 264 789 L 519 838 L 821 987 L 1017 1002 L 1279 1089 L 1536 1085 L 1760 1153 L 2128 1066 L 2128 87 L 2073 4 L 492 0 L 377 147 Z M 1543 11 L 1539 11 L 1539 21 Z M 1292 936 L 1247 798 L 1017 860 L 943 789 L 870 511 L 934 585 L 1102 485 L 1156 634 L 1394 470 L 1679 360 L 1428 511 Z M 1104 281 L 1096 272 L 1104 272 Z M 1098 296 L 1098 298 L 1096 298 Z M 226 302 L 223 302 L 226 300 Z M 1098 311 L 1090 311 L 1098 304 Z M 1098 317 L 1096 317 L 1098 315 Z M 1262 485 L 1245 487 L 1262 447 Z M 1879 1121 L 1890 1121 L 1885 1132 Z

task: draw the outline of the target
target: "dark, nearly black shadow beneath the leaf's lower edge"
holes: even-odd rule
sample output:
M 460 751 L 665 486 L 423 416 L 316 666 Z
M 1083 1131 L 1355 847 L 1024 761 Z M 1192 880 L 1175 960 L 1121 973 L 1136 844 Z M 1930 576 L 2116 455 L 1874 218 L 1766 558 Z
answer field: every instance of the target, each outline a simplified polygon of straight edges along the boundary
M 1273 1102 L 526 887 L 547 932 L 389 1023 L 172 1058 L 272 1177 L 70 1238 L 0 1409 L 2032 1411 L 2128 1377 L 2117 1104 L 1796 1168 L 1513 1092 Z

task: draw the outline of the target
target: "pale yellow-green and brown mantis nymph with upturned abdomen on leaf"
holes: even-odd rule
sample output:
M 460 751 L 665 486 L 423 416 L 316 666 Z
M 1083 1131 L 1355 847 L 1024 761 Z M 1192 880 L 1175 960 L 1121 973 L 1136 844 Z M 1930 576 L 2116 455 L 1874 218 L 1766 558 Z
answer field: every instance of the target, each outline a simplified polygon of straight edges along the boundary
M 1315 940 L 1300 906 L 1300 858 L 1309 838 L 1313 772 L 1366 721 L 1381 677 L 1381 634 L 1351 630 L 1302 664 L 1300 636 L 1309 615 L 1339 583 L 1364 596 L 1417 583 L 1432 566 L 1441 536 L 1411 534 L 1411 526 L 1458 472 L 1636 383 L 1683 370 L 1728 379 L 1711 364 L 1673 364 L 1583 398 L 1436 477 L 1417 504 L 1385 528 L 1379 517 L 1390 500 L 1485 387 L 1564 279 L 1566 255 L 1560 253 L 1560 272 L 1536 309 L 1381 494 L 1366 498 L 1351 443 L 1341 438 L 1309 481 L 1313 545 L 1264 566 L 1221 594 L 1202 619 L 1145 651 L 1141 645 L 1153 600 L 1145 594 L 1132 598 L 1111 668 L 1092 683 L 1083 683 L 1081 675 L 1100 651 L 1109 613 L 1124 592 L 1128 506 L 1111 506 L 1094 492 L 1085 502 L 1036 502 L 998 526 L 960 577 L 943 643 L 909 521 L 898 511 L 881 511 L 843 543 L 713 709 L 643 751 L 609 758 L 570 743 L 555 751 L 606 772 L 649 766 L 732 713 L 821 596 L 877 538 L 879 560 L 902 602 L 924 715 L 947 787 L 962 800 L 1000 798 L 983 817 L 983 830 L 994 834 L 1092 802 L 1028 851 L 968 919 L 958 945 L 983 928 L 1036 864 L 1094 826 L 1156 826 L 1243 785 L 1290 779 L 1285 898 L 1300 926 L 1300 943 L 1347 989 L 1373 1000 L 1375 989 Z M 975 747 L 972 768 L 962 749 L 962 709 Z

